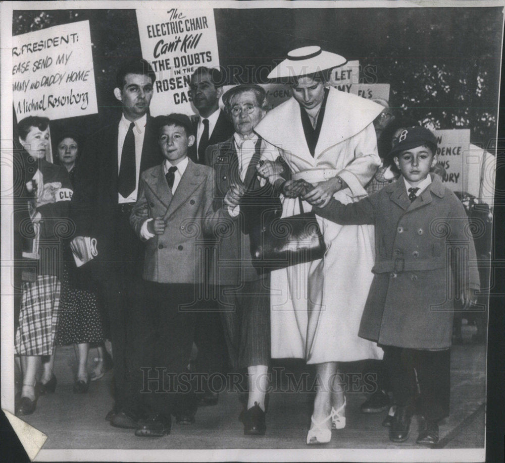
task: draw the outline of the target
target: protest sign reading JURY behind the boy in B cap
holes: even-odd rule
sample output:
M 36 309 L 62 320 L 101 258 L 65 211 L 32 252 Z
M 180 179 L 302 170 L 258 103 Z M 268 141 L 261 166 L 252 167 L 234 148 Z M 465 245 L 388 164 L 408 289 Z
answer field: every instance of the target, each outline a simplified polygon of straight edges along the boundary
M 437 137 L 437 162 L 445 169 L 442 183 L 452 191 L 464 191 L 468 179 L 470 129 L 433 130 Z

